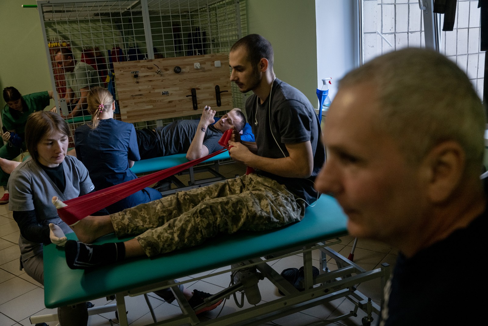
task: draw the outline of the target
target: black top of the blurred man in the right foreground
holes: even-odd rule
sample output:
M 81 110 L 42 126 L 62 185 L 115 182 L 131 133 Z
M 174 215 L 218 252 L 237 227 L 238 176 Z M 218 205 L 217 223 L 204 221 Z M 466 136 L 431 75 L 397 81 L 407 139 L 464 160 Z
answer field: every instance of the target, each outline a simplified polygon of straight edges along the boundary
M 488 210 L 467 228 L 407 259 L 398 256 L 384 326 L 484 325 L 488 304 L 483 257 Z M 387 287 L 387 286 L 386 286 Z

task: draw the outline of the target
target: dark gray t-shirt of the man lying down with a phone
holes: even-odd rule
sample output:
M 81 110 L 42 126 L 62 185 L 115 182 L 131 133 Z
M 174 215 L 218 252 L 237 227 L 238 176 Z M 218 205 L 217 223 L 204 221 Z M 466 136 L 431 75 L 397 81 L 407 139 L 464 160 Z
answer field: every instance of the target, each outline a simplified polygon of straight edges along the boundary
M 186 153 L 198 128 L 200 120 L 177 120 L 164 127 L 157 127 L 156 135 L 160 144 L 160 156 Z M 203 145 L 209 153 L 222 149 L 219 144 L 222 132 L 209 125 L 205 130 Z

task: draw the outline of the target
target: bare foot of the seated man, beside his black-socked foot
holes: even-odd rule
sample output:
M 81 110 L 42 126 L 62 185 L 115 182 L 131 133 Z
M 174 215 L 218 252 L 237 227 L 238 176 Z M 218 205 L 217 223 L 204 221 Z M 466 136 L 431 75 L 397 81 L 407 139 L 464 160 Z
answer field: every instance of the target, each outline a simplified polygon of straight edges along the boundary
M 75 224 L 70 225 L 78 240 L 85 244 L 92 244 L 98 238 L 114 232 L 110 216 L 87 216 Z

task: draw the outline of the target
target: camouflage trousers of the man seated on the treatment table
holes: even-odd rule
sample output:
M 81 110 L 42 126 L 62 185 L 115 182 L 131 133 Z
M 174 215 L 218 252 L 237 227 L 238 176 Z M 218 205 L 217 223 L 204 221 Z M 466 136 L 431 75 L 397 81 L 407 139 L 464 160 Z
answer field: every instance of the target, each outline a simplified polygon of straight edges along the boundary
M 301 221 L 305 201 L 276 181 L 244 175 L 110 215 L 117 237 L 136 236 L 148 257 L 202 244 L 219 233 L 264 231 Z

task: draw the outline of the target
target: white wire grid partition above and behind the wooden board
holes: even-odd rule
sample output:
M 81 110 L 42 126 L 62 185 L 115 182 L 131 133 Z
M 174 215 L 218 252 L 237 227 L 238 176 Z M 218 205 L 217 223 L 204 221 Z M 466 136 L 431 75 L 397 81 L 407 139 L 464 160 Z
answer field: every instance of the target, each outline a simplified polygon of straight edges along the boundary
M 68 112 L 85 94 L 80 89 L 94 84 L 118 99 L 113 62 L 185 56 L 190 51 L 225 53 L 241 37 L 245 21 L 245 2 L 237 0 L 39 0 L 38 8 L 55 101 L 67 97 L 67 70 L 82 68 L 70 79 L 76 91 L 67 97 Z M 71 51 L 73 62 L 62 60 L 66 55 L 56 57 L 60 51 Z M 233 87 L 234 106 L 243 107 L 236 90 Z M 89 121 L 86 111 L 82 115 L 81 121 Z

